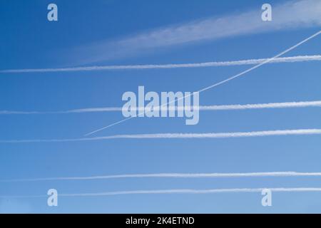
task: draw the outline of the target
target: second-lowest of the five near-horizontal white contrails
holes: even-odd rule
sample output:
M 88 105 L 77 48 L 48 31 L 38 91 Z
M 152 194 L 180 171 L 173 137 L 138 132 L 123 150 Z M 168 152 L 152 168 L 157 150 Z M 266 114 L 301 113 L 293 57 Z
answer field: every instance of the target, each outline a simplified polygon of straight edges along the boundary
M 212 172 L 212 173 L 148 173 L 100 175 L 88 177 L 46 177 L 33 179 L 0 180 L 0 182 L 38 182 L 52 180 L 104 180 L 125 178 L 215 178 L 215 177 L 320 177 L 321 172 Z

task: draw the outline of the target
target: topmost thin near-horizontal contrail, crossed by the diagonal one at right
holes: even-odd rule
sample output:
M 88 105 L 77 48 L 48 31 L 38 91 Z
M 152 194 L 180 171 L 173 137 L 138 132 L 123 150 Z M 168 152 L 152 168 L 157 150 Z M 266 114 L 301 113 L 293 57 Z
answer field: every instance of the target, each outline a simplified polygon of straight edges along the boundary
M 72 72 L 72 71 L 111 71 L 111 70 L 143 70 L 143 69 L 170 69 L 170 68 L 203 68 L 217 66 L 243 66 L 255 65 L 267 61 L 268 58 L 248 59 L 240 61 L 220 61 L 205 63 L 181 63 L 181 64 L 146 64 L 146 65 L 120 65 L 120 66 L 84 66 L 71 68 L 34 68 L 34 69 L 10 69 L 0 73 L 46 73 L 46 72 Z M 269 63 L 296 63 L 307 61 L 321 61 L 320 55 L 292 56 L 275 58 Z

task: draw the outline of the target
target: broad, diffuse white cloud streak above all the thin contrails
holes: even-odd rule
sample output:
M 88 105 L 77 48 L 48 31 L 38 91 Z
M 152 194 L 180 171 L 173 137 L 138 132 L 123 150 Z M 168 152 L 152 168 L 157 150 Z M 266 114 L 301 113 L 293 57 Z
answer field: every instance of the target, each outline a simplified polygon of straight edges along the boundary
M 99 41 L 80 48 L 77 56 L 90 56 L 84 62 L 105 61 L 134 55 L 153 48 L 165 48 L 187 43 L 213 41 L 220 38 L 244 36 L 254 33 L 284 31 L 321 25 L 321 1 L 297 0 L 273 5 L 272 21 L 261 19 L 257 9 L 240 14 L 215 16 L 156 28 L 115 41 Z

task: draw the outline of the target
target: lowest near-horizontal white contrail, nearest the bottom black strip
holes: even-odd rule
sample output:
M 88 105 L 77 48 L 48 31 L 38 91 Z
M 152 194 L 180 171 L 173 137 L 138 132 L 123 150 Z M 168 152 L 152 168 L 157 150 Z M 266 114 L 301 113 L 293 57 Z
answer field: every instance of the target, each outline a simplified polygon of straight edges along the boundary
M 263 188 L 222 188 L 209 190 L 173 189 L 173 190 L 133 190 L 115 192 L 69 193 L 59 194 L 58 197 L 102 197 L 111 195 L 158 195 L 158 194 L 213 194 L 213 193 L 243 193 L 243 192 L 321 192 L 321 187 L 263 187 Z M 48 195 L 1 195 L 0 198 L 38 198 Z

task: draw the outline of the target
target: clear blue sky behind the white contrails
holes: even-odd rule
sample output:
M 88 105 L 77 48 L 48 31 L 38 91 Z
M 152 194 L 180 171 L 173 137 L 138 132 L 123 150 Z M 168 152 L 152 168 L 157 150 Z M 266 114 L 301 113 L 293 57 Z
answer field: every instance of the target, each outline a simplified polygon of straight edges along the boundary
M 269 1 L 272 7 L 285 2 L 288 1 Z M 233 19 L 244 12 L 258 11 L 260 19 L 260 8 L 265 1 L 95 1 L 93 4 L 56 0 L 57 22 L 46 19 L 49 3 L 1 1 L 1 70 L 270 58 L 320 31 L 321 24 L 319 17 L 319 20 L 311 19 L 311 23 L 307 19 L 304 26 L 302 21 L 290 21 L 291 26 L 272 26 L 266 30 L 258 26 L 250 32 L 243 33 L 240 29 L 240 33 L 227 33 L 224 37 L 214 33 L 200 39 L 198 33 L 193 33 L 195 40 L 188 42 L 183 41 L 185 36 L 173 32 L 170 36 L 180 35 L 180 43 L 164 42 L 157 46 L 156 41 L 164 38 L 151 40 L 153 31 L 157 35 L 165 28 L 228 16 Z M 235 23 L 232 20 L 228 24 Z M 135 46 L 128 46 L 140 36 L 151 42 L 134 42 Z M 285 56 L 318 55 L 320 39 L 317 36 Z M 196 91 L 247 68 L 250 66 L 1 73 L 0 110 L 121 107 L 123 93 L 136 92 L 138 86 L 159 93 Z M 267 64 L 242 78 L 200 93 L 200 105 L 320 100 L 320 72 L 320 61 Z M 320 107 L 207 111 L 200 112 L 198 125 L 185 125 L 182 118 L 133 118 L 93 137 L 321 128 L 320 114 Z M 83 138 L 91 130 L 122 119 L 121 113 L 0 115 L 0 140 Z M 320 160 L 320 135 L 0 143 L 0 180 L 159 172 L 320 172 Z M 0 195 L 46 195 L 49 188 L 71 194 L 243 187 L 321 187 L 321 183 L 320 177 L 0 182 Z M 59 197 L 58 207 L 48 207 L 46 197 L 2 198 L 0 212 L 321 212 L 320 194 L 275 192 L 272 207 L 262 207 L 260 193 Z

